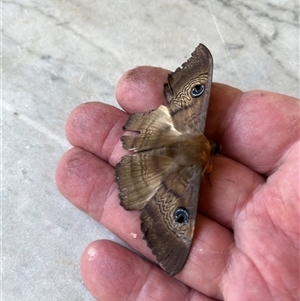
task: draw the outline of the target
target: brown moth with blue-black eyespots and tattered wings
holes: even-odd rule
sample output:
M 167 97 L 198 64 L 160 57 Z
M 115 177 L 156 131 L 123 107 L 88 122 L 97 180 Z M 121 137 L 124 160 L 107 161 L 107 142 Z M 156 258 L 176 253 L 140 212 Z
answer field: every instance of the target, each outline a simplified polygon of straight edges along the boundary
M 189 255 L 201 175 L 211 170 L 215 144 L 203 135 L 213 59 L 200 44 L 164 85 L 165 105 L 131 114 L 123 147 L 133 151 L 116 167 L 121 205 L 141 210 L 141 230 L 171 276 Z

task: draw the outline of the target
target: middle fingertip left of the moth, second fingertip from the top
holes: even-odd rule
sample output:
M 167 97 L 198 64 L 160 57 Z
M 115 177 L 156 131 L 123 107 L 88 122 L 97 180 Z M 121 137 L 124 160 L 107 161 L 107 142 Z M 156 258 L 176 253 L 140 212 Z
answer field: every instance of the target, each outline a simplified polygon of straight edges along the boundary
M 127 151 L 120 137 L 128 115 L 101 102 L 83 103 L 76 107 L 66 122 L 69 142 L 97 155 L 113 166 Z

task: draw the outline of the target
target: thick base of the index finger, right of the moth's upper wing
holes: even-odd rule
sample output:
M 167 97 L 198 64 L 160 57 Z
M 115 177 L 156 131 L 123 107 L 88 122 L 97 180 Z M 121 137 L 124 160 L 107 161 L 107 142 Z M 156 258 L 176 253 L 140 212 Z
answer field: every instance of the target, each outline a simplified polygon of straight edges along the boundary
M 267 91 L 230 94 L 213 85 L 206 131 L 222 154 L 269 175 L 299 137 L 299 101 Z

